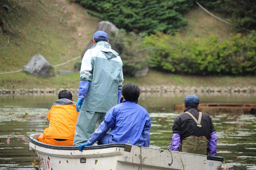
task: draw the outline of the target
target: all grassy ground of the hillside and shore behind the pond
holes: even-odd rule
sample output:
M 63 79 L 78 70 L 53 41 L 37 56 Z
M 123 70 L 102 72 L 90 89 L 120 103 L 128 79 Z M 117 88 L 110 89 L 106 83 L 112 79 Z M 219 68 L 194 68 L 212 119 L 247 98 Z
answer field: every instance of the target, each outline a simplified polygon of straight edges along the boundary
M 0 33 L 0 73 L 23 69 L 36 54 L 43 55 L 52 65 L 79 56 L 91 43 L 100 22 L 99 18 L 89 16 L 81 5 L 67 0 L 20 0 L 8 13 L 8 18 L 8 26 L 14 34 Z M 218 35 L 221 41 L 228 39 L 232 33 L 229 25 L 199 8 L 190 9 L 185 18 L 188 19 L 188 26 L 180 29 L 180 36 L 183 37 L 202 37 L 211 32 Z M 23 72 L 0 74 L 0 88 L 78 88 L 79 73 L 74 70 L 74 64 L 79 60 L 55 67 L 55 77 L 52 78 L 38 78 Z M 58 70 L 72 70 L 73 73 L 60 76 Z M 124 79 L 124 84 L 138 85 L 256 86 L 255 77 L 197 77 L 153 70 L 145 77 L 129 78 L 124 75 Z

